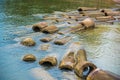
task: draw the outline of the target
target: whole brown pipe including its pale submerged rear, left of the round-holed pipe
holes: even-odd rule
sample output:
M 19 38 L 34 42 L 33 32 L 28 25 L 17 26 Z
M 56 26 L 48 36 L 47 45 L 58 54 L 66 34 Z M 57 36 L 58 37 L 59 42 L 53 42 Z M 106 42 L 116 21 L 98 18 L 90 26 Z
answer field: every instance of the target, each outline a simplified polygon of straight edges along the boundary
M 60 69 L 73 70 L 75 65 L 74 54 L 79 50 L 79 48 L 80 48 L 79 42 L 74 42 L 69 46 L 65 56 L 63 57 L 59 64 Z

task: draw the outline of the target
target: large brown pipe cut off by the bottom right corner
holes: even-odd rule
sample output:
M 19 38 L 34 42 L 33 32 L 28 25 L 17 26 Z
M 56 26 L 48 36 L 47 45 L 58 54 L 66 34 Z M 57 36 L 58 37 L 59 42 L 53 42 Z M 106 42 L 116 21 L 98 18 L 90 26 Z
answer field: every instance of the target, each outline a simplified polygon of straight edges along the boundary
M 120 80 L 120 75 L 97 68 L 87 76 L 86 80 Z

